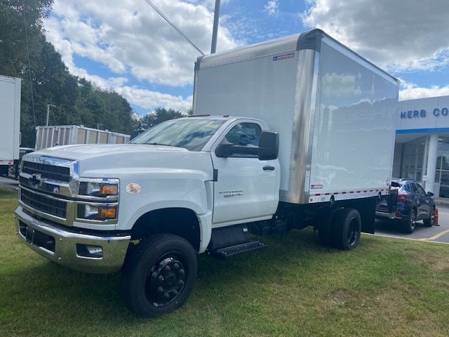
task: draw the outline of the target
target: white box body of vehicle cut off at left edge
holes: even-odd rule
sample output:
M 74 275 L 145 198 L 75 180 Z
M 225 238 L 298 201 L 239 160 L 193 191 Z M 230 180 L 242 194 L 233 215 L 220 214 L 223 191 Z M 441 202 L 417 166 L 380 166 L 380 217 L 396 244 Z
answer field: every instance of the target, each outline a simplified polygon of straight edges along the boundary
M 21 79 L 0 75 L 0 174 L 19 164 Z M 16 172 L 18 170 L 15 170 Z

